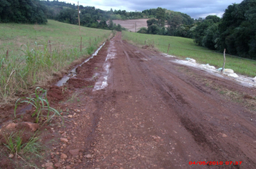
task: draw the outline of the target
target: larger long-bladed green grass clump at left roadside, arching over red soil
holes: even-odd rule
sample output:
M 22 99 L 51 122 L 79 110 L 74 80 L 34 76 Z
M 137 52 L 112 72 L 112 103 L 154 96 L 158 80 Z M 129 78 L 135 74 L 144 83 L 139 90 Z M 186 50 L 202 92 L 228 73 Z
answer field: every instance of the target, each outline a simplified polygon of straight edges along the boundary
M 49 122 L 55 115 L 61 116 L 58 110 L 50 107 L 47 100 L 47 90 L 44 90 L 40 87 L 37 87 L 35 89 L 35 93 L 32 94 L 30 97 L 22 97 L 17 100 L 14 108 L 14 117 L 16 117 L 16 110 L 18 105 L 23 102 L 31 104 L 33 107 L 35 107 L 35 112 L 32 114 L 32 117 L 36 115 L 36 123 L 39 122 L 40 118 L 41 120 L 43 120 L 43 118 L 46 117 L 47 120 L 45 122 Z M 47 115 L 44 115 L 44 112 L 47 112 Z M 53 112 L 53 115 L 50 116 L 50 112 Z

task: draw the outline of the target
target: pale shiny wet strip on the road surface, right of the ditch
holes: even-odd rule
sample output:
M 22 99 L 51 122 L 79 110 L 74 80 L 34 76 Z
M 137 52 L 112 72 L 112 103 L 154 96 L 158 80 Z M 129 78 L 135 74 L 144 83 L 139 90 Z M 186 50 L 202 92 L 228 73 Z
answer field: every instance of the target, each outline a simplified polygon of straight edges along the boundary
M 101 77 L 99 77 L 98 82 L 96 82 L 93 91 L 95 90 L 102 90 L 105 87 L 108 86 L 108 76 L 109 76 L 109 67 L 111 65 L 110 60 L 114 59 L 114 57 L 116 56 L 116 48 L 114 47 L 114 41 L 111 41 L 109 44 L 109 49 L 108 49 L 108 54 L 106 55 L 106 59 L 104 62 L 104 72 L 102 74 Z

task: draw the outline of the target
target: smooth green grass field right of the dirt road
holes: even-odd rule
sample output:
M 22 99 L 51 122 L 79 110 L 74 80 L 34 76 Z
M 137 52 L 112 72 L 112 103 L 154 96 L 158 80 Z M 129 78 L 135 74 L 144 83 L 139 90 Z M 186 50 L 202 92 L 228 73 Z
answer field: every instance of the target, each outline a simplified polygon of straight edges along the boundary
M 193 39 L 182 37 L 168 37 L 152 34 L 138 34 L 132 32 L 122 32 L 123 39 L 126 39 L 134 44 L 154 45 L 160 52 L 167 53 L 168 45 L 170 44 L 169 53 L 180 59 L 190 57 L 196 59 L 196 62 L 201 64 L 210 64 L 216 68 L 223 66 L 223 54 L 216 53 L 204 47 L 198 47 Z M 237 74 L 247 75 L 249 77 L 256 76 L 256 61 L 241 59 L 226 55 L 225 68 L 234 69 Z

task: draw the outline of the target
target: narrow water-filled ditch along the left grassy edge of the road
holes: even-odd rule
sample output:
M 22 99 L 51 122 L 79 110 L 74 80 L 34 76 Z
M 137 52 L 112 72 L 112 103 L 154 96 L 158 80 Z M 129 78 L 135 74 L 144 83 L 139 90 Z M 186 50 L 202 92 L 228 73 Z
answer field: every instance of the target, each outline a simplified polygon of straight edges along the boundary
M 105 42 L 104 42 L 105 44 Z M 78 67 L 81 67 L 84 63 L 88 62 L 90 59 L 92 59 L 94 56 L 96 56 L 99 52 L 99 50 L 104 46 L 104 44 L 101 45 L 101 47 L 99 47 L 99 49 L 96 50 L 96 52 L 94 52 L 91 57 L 87 58 L 83 63 L 78 64 L 76 67 L 74 67 L 73 69 L 70 70 L 70 72 L 68 73 L 68 75 L 65 75 L 62 79 L 60 79 L 55 85 L 60 87 L 63 86 L 63 84 L 65 84 L 66 82 L 68 82 L 68 79 L 70 79 L 71 77 L 76 77 L 76 69 Z

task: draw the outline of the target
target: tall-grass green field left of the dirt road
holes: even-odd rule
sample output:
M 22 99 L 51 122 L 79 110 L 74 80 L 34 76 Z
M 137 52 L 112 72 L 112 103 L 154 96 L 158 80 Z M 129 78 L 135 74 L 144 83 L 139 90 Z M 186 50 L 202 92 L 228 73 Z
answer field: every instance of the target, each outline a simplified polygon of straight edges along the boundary
M 79 26 L 52 20 L 46 25 L 0 24 L 0 105 L 44 85 L 52 74 L 92 54 L 110 34 L 82 26 L 80 34 Z

